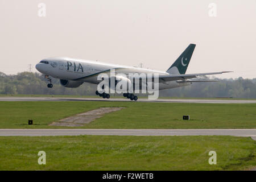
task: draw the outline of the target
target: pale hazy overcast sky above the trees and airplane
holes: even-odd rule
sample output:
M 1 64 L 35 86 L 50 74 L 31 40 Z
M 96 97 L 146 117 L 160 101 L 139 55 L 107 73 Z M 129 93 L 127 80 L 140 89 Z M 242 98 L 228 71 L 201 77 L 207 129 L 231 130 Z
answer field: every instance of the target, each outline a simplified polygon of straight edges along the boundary
M 187 73 L 256 77 L 255 0 L 0 0 L 0 23 L 0 72 L 7 74 L 28 64 L 35 72 L 52 56 L 166 71 L 194 43 Z

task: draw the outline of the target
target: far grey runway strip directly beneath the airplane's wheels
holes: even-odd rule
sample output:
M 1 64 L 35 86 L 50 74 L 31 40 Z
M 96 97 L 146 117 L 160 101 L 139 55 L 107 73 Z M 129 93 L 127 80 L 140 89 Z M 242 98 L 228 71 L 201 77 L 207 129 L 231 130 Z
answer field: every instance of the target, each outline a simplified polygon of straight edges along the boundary
M 148 100 L 139 98 L 130 101 L 127 98 L 72 98 L 72 97 L 0 97 L 0 101 L 118 101 L 118 102 L 176 102 L 176 103 L 206 103 L 206 104 L 256 104 L 256 100 L 221 100 L 221 99 L 162 99 Z

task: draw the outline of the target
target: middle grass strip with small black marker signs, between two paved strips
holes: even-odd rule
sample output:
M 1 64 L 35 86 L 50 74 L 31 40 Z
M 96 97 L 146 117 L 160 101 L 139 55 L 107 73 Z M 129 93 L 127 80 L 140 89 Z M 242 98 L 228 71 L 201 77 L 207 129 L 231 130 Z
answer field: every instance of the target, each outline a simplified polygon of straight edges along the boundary
M 65 128 L 53 121 L 98 107 L 126 107 L 84 125 L 88 129 L 245 129 L 256 128 L 256 104 L 145 102 L 0 102 L 0 128 Z M 190 121 L 183 121 L 190 115 Z M 27 125 L 33 119 L 34 125 Z

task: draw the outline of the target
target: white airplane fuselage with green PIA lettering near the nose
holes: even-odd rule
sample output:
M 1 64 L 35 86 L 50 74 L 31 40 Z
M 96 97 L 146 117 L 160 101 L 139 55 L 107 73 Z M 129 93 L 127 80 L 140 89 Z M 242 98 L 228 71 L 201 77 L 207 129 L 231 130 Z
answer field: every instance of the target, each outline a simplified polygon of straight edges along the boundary
M 115 69 L 116 74 L 122 74 L 124 76 L 129 73 L 158 73 L 159 75 L 170 75 L 167 72 L 151 69 L 108 64 L 100 61 L 73 59 L 69 57 L 53 57 L 44 59 L 40 61 L 40 63 L 36 64 L 36 69 L 44 75 L 59 78 L 61 80 L 90 82 L 92 84 L 98 84 L 100 82 L 97 80 L 99 73 L 110 74 L 110 69 Z M 189 84 L 189 82 L 177 81 L 159 82 L 159 90 L 171 89 Z

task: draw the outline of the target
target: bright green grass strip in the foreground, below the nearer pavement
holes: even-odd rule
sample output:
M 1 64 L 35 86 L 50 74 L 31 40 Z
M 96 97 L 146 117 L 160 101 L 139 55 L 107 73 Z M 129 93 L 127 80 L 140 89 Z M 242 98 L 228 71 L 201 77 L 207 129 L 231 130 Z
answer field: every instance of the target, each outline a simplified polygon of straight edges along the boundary
M 209 151 L 217 164 L 210 165 Z M 38 152 L 46 152 L 46 165 Z M 0 137 L 0 170 L 243 170 L 256 141 L 242 137 Z

